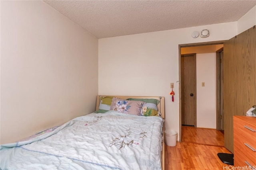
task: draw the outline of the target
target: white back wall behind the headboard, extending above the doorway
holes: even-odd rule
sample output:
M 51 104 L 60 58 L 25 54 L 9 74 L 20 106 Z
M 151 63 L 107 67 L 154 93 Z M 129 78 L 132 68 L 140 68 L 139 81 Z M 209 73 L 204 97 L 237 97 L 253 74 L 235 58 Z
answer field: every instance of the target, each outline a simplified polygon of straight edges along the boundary
M 209 29 L 210 36 L 191 37 L 202 29 Z M 236 30 L 237 23 L 230 22 L 99 39 L 99 94 L 164 96 L 166 129 L 179 131 L 178 45 L 230 39 Z

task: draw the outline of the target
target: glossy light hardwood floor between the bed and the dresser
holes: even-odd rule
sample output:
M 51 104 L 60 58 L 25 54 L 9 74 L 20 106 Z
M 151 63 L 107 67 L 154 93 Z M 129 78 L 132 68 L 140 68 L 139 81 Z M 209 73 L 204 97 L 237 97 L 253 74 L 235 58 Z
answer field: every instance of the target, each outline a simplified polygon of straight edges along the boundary
M 197 130 L 182 129 L 183 133 L 192 133 L 191 138 L 184 136 L 186 141 L 177 142 L 175 147 L 165 146 L 165 170 L 223 170 L 224 167 L 228 169 L 229 165 L 222 163 L 217 156 L 219 152 L 231 153 L 223 147 L 224 134 L 209 135 L 212 129 L 203 129 L 204 133 L 195 133 Z M 216 143 L 209 144 L 209 141 Z

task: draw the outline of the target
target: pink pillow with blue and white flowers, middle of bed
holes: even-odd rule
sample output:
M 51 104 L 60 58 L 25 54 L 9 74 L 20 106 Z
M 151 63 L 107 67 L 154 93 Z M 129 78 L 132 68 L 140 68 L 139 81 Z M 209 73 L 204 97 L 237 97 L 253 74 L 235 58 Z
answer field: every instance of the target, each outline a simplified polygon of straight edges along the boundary
M 113 98 L 110 106 L 110 110 L 115 110 L 120 113 L 126 113 L 130 115 L 141 116 L 142 105 L 146 102 L 142 101 L 132 101 L 132 100 L 123 100 L 118 98 Z

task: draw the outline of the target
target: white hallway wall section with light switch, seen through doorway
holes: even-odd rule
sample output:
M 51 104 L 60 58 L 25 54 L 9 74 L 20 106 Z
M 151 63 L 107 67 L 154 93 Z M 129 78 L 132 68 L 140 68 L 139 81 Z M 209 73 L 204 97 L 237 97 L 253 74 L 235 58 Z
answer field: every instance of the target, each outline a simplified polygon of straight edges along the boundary
M 216 129 L 216 53 L 196 54 L 196 96 L 197 127 Z

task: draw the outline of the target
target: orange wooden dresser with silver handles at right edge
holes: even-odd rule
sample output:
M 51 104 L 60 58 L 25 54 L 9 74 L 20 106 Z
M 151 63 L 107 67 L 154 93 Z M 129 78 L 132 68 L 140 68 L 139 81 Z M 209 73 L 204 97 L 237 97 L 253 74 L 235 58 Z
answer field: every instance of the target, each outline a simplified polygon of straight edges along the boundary
M 234 116 L 234 166 L 256 170 L 256 117 Z

